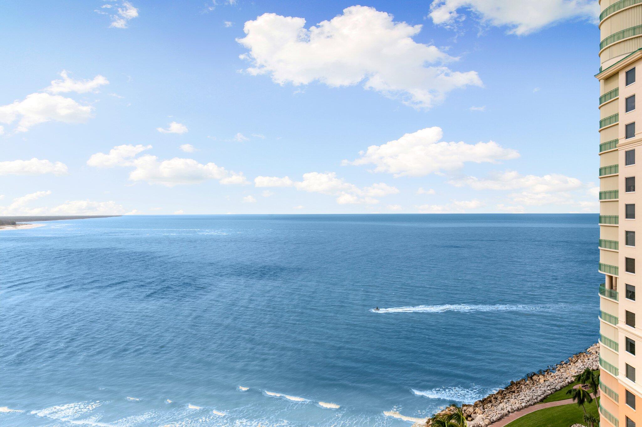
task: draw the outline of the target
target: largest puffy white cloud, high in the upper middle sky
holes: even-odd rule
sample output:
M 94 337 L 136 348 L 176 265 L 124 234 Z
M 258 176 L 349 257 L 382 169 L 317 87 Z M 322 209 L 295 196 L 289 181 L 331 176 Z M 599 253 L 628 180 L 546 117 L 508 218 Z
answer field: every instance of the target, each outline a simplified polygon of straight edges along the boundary
M 279 85 L 320 81 L 331 87 L 352 86 L 400 98 L 415 108 L 429 108 L 447 92 L 482 86 L 474 71 L 457 72 L 444 63 L 455 61 L 433 45 L 412 37 L 421 25 L 395 22 L 392 15 L 365 6 L 351 6 L 331 20 L 304 28 L 306 20 L 264 13 L 245 22 L 249 52 L 247 72 L 269 74 Z

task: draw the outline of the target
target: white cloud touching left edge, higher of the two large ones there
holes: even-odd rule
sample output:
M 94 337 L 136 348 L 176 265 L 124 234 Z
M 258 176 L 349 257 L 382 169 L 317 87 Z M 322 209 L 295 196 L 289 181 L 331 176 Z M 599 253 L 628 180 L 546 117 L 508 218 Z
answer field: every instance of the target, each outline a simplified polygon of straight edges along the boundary
M 22 101 L 0 106 L 0 122 L 11 124 L 19 119 L 16 131 L 26 132 L 44 122 L 83 123 L 91 118 L 94 108 L 78 104 L 71 98 L 49 93 L 31 93 Z

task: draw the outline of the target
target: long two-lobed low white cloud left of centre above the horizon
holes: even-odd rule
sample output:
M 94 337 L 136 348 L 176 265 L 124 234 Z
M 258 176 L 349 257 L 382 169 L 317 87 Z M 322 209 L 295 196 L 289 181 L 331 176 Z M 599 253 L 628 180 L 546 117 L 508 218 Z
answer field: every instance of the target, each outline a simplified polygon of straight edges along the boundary
M 131 181 L 144 181 L 173 187 L 179 184 L 198 184 L 215 179 L 220 184 L 247 184 L 243 173 L 230 172 L 215 163 L 203 165 L 194 159 L 173 159 L 159 161 L 156 156 L 135 157 L 139 152 L 152 148 L 151 145 L 119 145 L 109 154 L 96 153 L 89 157 L 87 165 L 96 167 L 130 166 Z

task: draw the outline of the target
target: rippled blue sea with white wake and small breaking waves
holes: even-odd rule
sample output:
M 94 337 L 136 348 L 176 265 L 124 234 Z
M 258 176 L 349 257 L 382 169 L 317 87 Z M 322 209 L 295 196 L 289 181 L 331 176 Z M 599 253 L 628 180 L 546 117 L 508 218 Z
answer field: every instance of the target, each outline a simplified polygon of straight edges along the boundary
M 127 216 L 1 231 L 0 410 L 22 412 L 0 424 L 408 426 L 383 412 L 472 402 L 596 342 L 597 220 Z

